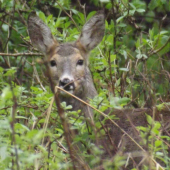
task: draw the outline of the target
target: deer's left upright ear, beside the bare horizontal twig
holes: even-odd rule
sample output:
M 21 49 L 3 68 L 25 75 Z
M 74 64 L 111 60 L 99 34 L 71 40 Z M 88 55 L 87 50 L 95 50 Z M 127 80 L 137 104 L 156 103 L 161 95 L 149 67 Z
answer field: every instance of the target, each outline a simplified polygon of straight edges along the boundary
M 28 17 L 28 32 L 32 44 L 42 53 L 46 54 L 48 49 L 57 44 L 54 40 L 50 28 L 32 12 Z

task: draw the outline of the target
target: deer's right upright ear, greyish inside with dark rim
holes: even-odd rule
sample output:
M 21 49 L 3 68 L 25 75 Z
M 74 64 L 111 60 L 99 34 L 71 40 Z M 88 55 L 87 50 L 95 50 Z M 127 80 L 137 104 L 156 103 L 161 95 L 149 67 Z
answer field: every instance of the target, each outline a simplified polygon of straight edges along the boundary
M 83 46 L 86 51 L 92 50 L 103 39 L 104 30 L 105 16 L 99 11 L 83 26 L 77 44 Z

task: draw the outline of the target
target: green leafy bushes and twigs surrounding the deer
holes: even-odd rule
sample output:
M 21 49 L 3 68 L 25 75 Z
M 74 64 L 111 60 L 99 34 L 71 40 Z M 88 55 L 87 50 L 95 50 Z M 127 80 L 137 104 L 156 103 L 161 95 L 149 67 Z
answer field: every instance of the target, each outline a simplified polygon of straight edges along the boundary
M 29 13 L 36 11 L 59 42 L 69 42 L 78 38 L 85 22 L 101 9 L 106 13 L 106 30 L 102 42 L 90 55 L 90 68 L 99 93 L 91 105 L 101 111 L 108 107 L 169 109 L 169 0 L 0 0 L 1 170 L 72 166 L 41 63 L 43 56 L 29 39 Z M 101 150 L 91 140 L 87 141 L 87 136 L 93 139 L 94 135 L 89 135 L 86 124 L 82 123 L 83 116 L 70 113 L 71 106 L 65 103 L 62 106 L 72 128 L 79 130 L 74 142 L 84 144 L 80 148 L 81 158 L 88 162 L 89 169 L 94 169 L 101 161 Z M 149 148 L 152 156 L 162 160 L 164 169 L 169 170 L 169 132 L 163 136 L 160 122 L 155 125 L 154 137 L 150 135 L 154 142 L 149 143 Z M 97 117 L 96 126 L 101 127 Z M 139 129 L 145 139 L 149 129 Z M 88 147 L 93 147 L 93 155 L 88 155 Z M 103 166 L 120 169 L 126 162 L 126 158 L 116 155 Z

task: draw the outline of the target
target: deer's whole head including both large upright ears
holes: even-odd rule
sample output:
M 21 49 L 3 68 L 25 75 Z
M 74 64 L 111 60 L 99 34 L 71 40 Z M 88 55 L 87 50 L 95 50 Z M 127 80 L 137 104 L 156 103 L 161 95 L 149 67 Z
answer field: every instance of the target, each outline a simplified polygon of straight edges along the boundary
M 31 13 L 28 31 L 35 47 L 44 53 L 48 61 L 51 80 L 68 92 L 79 96 L 83 93 L 89 78 L 87 55 L 104 36 L 104 14 L 98 12 L 83 27 L 76 42 L 59 44 L 43 21 Z M 88 80 L 87 80 L 88 79 Z M 93 82 L 91 82 L 93 85 Z M 67 96 L 60 92 L 60 95 Z

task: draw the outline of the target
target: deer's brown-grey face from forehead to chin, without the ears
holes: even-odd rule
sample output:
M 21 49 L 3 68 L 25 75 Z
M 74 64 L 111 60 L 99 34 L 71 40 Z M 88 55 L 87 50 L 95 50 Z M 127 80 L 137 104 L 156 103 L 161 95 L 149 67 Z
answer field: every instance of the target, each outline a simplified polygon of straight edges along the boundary
M 71 44 L 59 45 L 49 58 L 49 70 L 54 85 L 75 95 L 82 93 L 87 64 L 80 50 Z M 64 92 L 60 94 L 67 95 Z

